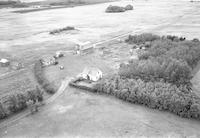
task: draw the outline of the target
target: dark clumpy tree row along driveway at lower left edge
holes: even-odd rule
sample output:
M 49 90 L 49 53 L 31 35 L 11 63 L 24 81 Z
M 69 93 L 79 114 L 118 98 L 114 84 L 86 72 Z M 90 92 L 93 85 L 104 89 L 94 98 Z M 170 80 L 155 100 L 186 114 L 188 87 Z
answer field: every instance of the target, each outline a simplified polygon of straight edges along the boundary
M 36 89 L 28 90 L 25 93 L 17 93 L 9 95 L 6 100 L 0 100 L 0 119 L 4 119 L 13 113 L 19 112 L 27 108 L 27 101 L 32 100 L 43 101 L 43 92 L 36 87 Z

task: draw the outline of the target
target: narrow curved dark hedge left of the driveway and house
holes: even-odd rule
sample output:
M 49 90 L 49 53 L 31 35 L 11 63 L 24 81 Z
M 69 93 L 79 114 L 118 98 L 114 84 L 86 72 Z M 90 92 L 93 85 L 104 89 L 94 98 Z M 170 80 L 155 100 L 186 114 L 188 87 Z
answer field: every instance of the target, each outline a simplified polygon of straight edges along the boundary
M 47 93 L 54 94 L 57 91 L 54 84 L 45 78 L 41 60 L 38 60 L 34 65 L 34 75 L 38 83 Z

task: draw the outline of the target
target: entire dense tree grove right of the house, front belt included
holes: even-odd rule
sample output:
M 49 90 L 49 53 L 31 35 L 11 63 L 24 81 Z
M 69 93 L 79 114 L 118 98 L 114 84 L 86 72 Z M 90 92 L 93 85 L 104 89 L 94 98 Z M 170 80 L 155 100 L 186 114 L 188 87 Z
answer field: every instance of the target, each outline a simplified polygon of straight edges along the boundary
M 98 82 L 97 92 L 200 119 L 200 97 L 190 83 L 191 71 L 200 60 L 200 42 L 150 33 L 130 35 L 126 42 L 148 47 L 140 50 L 138 60 L 122 63 L 118 74 Z

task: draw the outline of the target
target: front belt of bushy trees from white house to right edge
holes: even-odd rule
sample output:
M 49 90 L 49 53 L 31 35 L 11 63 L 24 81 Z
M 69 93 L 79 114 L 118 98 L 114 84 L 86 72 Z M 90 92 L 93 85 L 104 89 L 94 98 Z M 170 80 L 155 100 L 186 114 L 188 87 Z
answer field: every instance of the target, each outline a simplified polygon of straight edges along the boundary
M 100 93 L 114 95 L 131 103 L 167 110 L 181 117 L 200 119 L 200 98 L 187 89 L 169 83 L 115 76 L 102 79 L 95 88 Z

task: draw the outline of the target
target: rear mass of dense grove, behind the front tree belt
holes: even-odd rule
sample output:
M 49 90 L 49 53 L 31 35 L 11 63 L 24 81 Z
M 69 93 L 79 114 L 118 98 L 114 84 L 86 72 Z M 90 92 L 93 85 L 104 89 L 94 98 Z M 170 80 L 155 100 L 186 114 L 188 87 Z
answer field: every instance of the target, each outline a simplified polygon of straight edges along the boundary
M 200 60 L 200 43 L 185 40 L 183 37 L 141 34 L 129 36 L 131 43 L 149 42 L 150 46 L 139 52 L 139 60 L 122 64 L 120 76 L 142 79 L 144 81 L 160 81 L 177 86 L 191 86 L 191 70 Z

